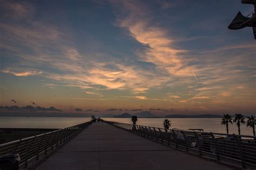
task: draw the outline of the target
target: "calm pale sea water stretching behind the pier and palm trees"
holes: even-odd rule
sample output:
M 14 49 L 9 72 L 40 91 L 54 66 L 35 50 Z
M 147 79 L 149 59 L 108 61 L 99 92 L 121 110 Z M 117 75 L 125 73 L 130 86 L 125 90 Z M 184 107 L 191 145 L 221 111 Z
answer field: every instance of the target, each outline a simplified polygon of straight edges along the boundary
M 66 128 L 90 121 L 80 117 L 0 117 L 0 128 Z M 106 121 L 132 123 L 131 118 L 103 118 Z M 206 132 L 226 133 L 220 118 L 171 118 L 171 128 L 204 129 Z M 138 118 L 137 124 L 163 128 L 164 118 Z M 236 124 L 229 125 L 230 133 L 238 133 Z M 252 135 L 252 129 L 241 125 L 241 134 Z

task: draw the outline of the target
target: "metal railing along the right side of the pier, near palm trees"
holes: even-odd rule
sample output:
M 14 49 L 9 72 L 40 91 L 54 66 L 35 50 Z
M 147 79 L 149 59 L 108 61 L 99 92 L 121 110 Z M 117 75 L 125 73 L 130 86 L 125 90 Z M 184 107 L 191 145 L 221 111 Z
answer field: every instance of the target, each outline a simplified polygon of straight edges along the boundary
M 218 161 L 240 164 L 243 168 L 256 168 L 256 136 L 167 130 L 143 125 L 104 122 L 139 136 L 173 145 L 181 150 L 213 157 Z

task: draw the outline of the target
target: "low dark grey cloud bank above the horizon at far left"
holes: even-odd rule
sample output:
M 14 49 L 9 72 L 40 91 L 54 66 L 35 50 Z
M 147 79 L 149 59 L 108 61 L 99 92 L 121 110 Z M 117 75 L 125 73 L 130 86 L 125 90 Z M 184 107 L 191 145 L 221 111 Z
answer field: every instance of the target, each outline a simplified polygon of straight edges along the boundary
M 55 107 L 44 108 L 44 107 L 33 107 L 32 105 L 26 105 L 25 107 L 18 107 L 17 105 L 0 107 L 3 111 L 62 111 Z

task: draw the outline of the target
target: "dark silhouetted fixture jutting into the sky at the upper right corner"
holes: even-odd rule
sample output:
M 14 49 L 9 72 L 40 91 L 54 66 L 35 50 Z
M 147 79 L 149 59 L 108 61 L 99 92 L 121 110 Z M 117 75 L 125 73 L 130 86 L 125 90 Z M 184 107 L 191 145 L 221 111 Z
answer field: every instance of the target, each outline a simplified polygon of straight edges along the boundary
M 256 0 L 242 0 L 243 4 L 253 4 L 254 11 L 256 11 Z M 230 30 L 239 30 L 244 27 L 252 27 L 254 39 L 256 39 L 256 15 L 252 13 L 252 17 L 248 18 L 241 14 L 239 11 L 237 16 L 234 17 L 230 25 L 228 25 L 228 29 Z

